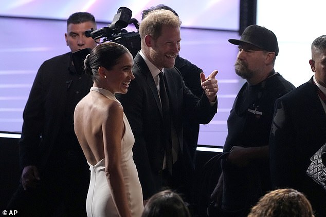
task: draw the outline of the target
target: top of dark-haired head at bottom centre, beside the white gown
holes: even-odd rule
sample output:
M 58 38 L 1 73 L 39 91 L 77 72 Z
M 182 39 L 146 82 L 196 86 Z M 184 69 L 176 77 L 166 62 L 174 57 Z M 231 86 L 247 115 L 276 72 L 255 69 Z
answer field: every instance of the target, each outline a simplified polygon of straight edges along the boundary
M 150 198 L 141 217 L 190 217 L 190 213 L 177 193 L 164 190 Z

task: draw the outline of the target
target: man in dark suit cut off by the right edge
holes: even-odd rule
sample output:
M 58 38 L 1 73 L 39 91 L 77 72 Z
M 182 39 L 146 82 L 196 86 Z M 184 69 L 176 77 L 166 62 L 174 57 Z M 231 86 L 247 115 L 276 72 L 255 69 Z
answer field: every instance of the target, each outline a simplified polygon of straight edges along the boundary
M 316 38 L 311 50 L 310 81 L 276 101 L 269 156 L 273 187 L 304 193 L 317 217 L 326 216 L 326 191 L 306 170 L 326 143 L 326 35 Z

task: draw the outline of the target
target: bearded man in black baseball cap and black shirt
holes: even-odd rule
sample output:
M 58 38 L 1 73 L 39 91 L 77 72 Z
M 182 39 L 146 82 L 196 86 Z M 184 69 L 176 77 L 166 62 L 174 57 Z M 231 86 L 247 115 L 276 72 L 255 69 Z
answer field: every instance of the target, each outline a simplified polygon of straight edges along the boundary
M 247 216 L 250 207 L 271 190 L 268 140 L 276 99 L 295 87 L 274 70 L 279 53 L 275 34 L 248 26 L 240 40 L 230 39 L 239 52 L 234 69 L 247 82 L 242 86 L 227 121 L 228 135 L 221 160 L 222 174 L 212 200 L 219 214 Z M 223 214 L 221 214 L 223 213 Z

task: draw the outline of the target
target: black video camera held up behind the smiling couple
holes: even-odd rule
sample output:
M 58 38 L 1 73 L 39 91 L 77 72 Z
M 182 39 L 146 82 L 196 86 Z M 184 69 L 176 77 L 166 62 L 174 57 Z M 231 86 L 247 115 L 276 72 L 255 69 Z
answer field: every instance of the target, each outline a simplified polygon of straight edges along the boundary
M 114 15 L 113 21 L 110 25 L 94 31 L 93 29 L 87 30 L 85 35 L 87 37 L 92 37 L 94 40 L 104 37 L 102 42 L 99 43 L 110 41 L 123 45 L 131 52 L 133 57 L 135 57 L 137 52 L 141 49 L 140 35 L 138 32 L 139 24 L 137 19 L 131 18 L 131 15 L 132 11 L 129 8 L 120 7 L 118 13 Z M 129 24 L 134 24 L 137 32 L 128 32 L 123 29 Z

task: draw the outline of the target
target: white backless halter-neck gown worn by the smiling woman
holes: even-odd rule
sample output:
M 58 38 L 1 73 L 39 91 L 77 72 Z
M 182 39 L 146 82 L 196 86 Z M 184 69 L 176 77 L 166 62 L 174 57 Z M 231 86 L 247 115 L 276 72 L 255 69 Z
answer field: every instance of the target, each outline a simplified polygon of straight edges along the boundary
M 97 91 L 106 98 L 119 102 L 114 94 L 108 90 L 92 87 L 90 91 Z M 138 172 L 133 161 L 132 147 L 135 139 L 126 116 L 123 114 L 125 132 L 121 141 L 121 170 L 128 198 L 128 205 L 132 216 L 141 216 L 143 211 L 142 191 L 138 178 Z M 87 162 L 88 163 L 88 162 Z M 119 216 L 114 205 L 112 193 L 108 187 L 105 176 L 105 160 L 102 159 L 96 165 L 89 165 L 90 184 L 87 194 L 86 210 L 88 217 L 113 217 Z

